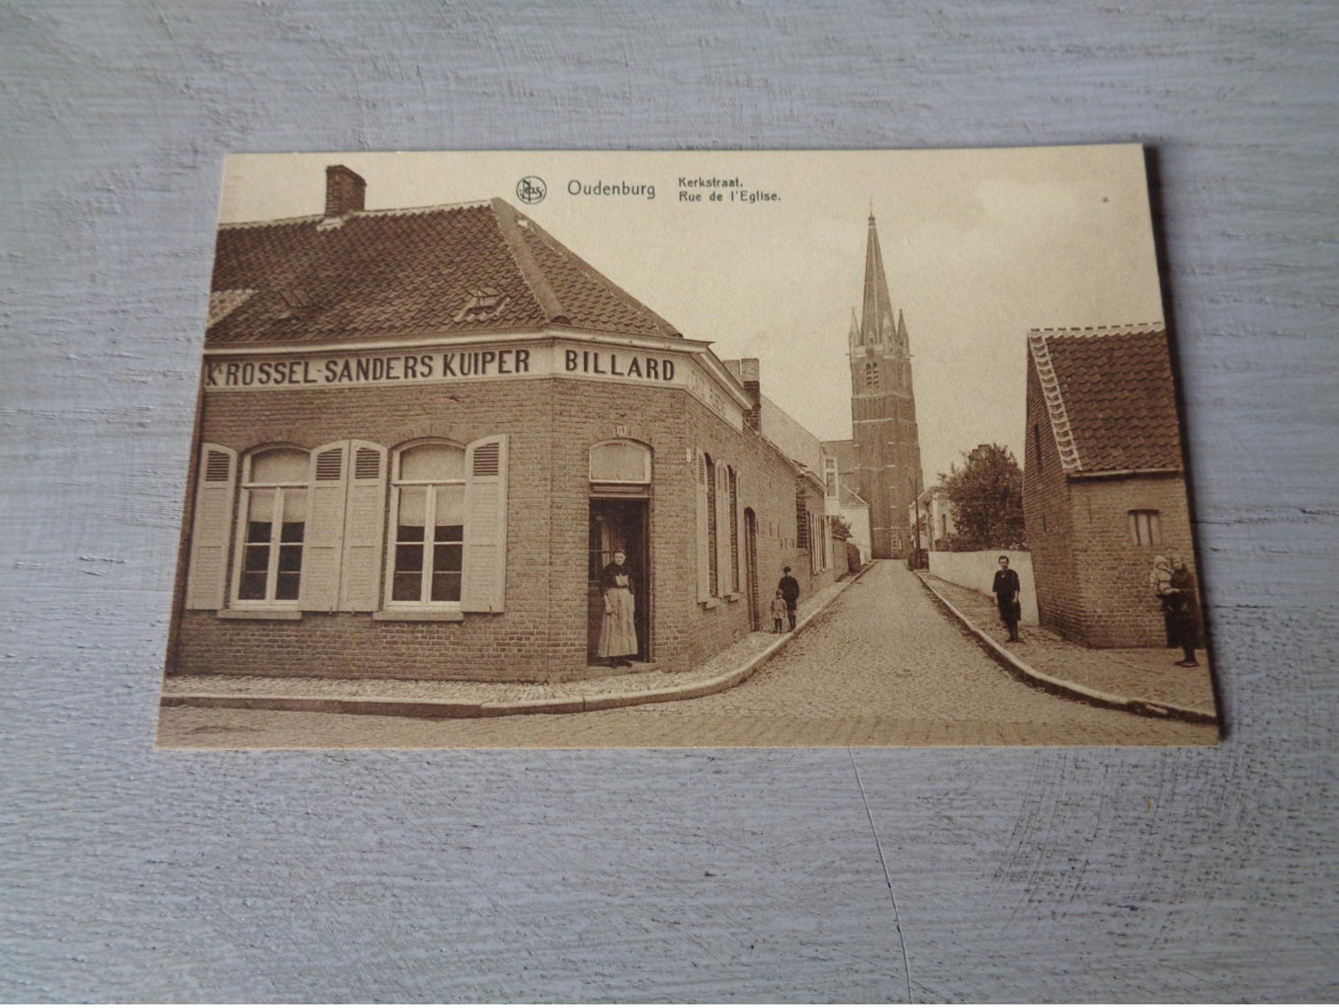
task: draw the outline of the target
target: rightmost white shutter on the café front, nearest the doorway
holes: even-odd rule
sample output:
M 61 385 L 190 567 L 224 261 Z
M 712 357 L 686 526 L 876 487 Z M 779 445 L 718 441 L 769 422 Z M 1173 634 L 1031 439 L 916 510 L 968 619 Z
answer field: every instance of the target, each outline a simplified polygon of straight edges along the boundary
M 499 613 L 506 601 L 507 436 L 465 448 L 465 569 L 461 610 Z

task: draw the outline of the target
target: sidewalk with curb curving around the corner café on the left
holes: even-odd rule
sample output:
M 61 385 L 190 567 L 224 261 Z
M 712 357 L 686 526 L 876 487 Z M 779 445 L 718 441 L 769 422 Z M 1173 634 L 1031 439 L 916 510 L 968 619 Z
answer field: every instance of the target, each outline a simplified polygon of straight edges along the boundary
M 631 672 L 576 683 L 479 683 L 416 679 L 297 679 L 266 676 L 169 676 L 163 707 L 226 707 L 400 718 L 501 718 L 517 713 L 578 713 L 612 707 L 690 700 L 730 689 L 822 614 L 858 573 L 799 602 L 795 633 L 750 633 L 687 672 L 633 665 Z

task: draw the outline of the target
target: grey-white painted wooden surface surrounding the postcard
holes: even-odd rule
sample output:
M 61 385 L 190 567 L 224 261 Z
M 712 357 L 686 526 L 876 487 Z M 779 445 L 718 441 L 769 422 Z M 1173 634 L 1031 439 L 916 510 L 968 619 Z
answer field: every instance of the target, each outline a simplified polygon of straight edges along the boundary
M 1334 999 L 1339 8 L 0 8 L 0 1000 Z M 150 750 L 225 151 L 1157 147 L 1214 751 Z

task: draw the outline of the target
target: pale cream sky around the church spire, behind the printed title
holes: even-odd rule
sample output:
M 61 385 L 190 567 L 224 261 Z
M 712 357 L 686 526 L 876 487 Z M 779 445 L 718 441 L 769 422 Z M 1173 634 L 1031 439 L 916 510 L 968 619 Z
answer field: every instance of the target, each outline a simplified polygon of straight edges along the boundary
M 319 214 L 336 163 L 367 179 L 367 209 L 502 197 L 684 336 L 758 357 L 763 394 L 834 440 L 850 438 L 846 335 L 873 213 L 909 333 L 925 486 L 980 443 L 1022 465 L 1028 329 L 1164 317 L 1137 145 L 236 154 L 220 220 Z M 540 202 L 518 198 L 525 177 L 544 179 Z M 682 185 L 694 179 L 742 186 Z

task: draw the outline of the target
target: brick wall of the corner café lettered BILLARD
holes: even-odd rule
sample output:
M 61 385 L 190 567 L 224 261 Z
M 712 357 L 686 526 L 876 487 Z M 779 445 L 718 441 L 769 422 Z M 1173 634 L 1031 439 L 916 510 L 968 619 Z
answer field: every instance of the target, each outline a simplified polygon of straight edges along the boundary
M 841 573 L 833 565 L 810 576 L 807 552 L 795 542 L 795 475 L 789 462 L 757 432 L 734 430 L 680 388 L 545 377 L 228 391 L 206 396 L 201 420 L 202 440 L 238 452 L 284 442 L 312 448 L 344 438 L 388 448 L 426 436 L 463 444 L 491 434 L 510 436 L 505 612 L 415 622 L 343 612 L 304 613 L 300 621 L 224 620 L 210 610 L 186 610 L 179 612 L 169 672 L 495 681 L 588 675 L 588 452 L 615 436 L 652 448 L 649 649 L 664 668 L 690 668 L 749 632 L 746 507 L 758 519 L 763 608 L 785 565 L 805 593 Z M 739 490 L 740 592 L 726 597 L 722 588 L 710 606 L 696 597 L 692 448 L 734 467 Z M 822 514 L 821 490 L 805 493 L 810 509 Z M 728 572 L 722 574 L 728 585 Z

